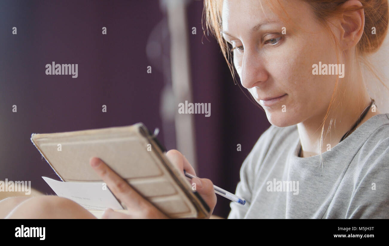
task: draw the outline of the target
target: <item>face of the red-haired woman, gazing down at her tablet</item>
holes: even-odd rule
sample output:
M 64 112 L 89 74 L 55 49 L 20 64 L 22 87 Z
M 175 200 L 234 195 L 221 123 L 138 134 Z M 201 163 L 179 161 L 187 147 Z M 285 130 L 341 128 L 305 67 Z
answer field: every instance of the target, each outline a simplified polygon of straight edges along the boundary
M 291 18 L 288 23 L 265 1 L 224 0 L 223 37 L 234 48 L 242 86 L 265 109 L 272 125 L 286 127 L 317 116 L 322 120 L 338 75 L 313 75 L 312 65 L 338 63 L 333 38 L 307 3 L 280 2 Z M 263 101 L 282 95 L 273 103 Z

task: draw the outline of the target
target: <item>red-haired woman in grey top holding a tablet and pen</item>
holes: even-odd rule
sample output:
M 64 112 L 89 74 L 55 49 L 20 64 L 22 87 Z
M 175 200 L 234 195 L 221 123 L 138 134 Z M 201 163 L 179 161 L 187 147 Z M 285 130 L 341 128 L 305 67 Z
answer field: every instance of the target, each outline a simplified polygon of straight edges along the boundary
M 389 114 L 360 67 L 386 35 L 387 0 L 205 0 L 205 18 L 272 124 L 242 165 L 246 204 L 231 203 L 229 218 L 389 218 Z M 178 151 L 167 156 L 195 174 Z M 90 163 L 129 210 L 103 218 L 166 218 L 100 159 Z M 213 211 L 212 182 L 192 182 Z M 0 205 L 6 218 L 94 218 L 60 197 Z

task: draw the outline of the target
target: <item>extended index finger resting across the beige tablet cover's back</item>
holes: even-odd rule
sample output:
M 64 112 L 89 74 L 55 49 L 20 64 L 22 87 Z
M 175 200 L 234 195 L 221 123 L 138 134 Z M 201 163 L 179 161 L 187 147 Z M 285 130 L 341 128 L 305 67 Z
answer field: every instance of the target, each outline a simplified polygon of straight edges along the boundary
M 137 191 L 135 191 L 124 179 L 112 171 L 100 158 L 92 157 L 89 160 L 92 168 L 103 179 L 111 192 L 121 200 L 128 209 L 142 209 L 149 205 Z

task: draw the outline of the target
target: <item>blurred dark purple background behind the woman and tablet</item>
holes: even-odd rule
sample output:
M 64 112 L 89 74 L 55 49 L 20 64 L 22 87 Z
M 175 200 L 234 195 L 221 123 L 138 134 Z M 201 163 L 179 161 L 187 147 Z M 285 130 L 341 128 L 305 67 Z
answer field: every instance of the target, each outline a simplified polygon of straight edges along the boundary
M 59 178 L 32 133 L 143 122 L 199 177 L 234 193 L 242 162 L 270 123 L 234 85 L 219 45 L 203 33 L 202 12 L 202 0 L 1 0 L 0 180 L 29 180 L 54 194 L 41 176 Z M 78 64 L 78 77 L 46 75 L 52 62 Z M 186 100 L 210 104 L 210 117 L 178 114 Z M 230 202 L 217 199 L 214 214 L 226 218 Z

